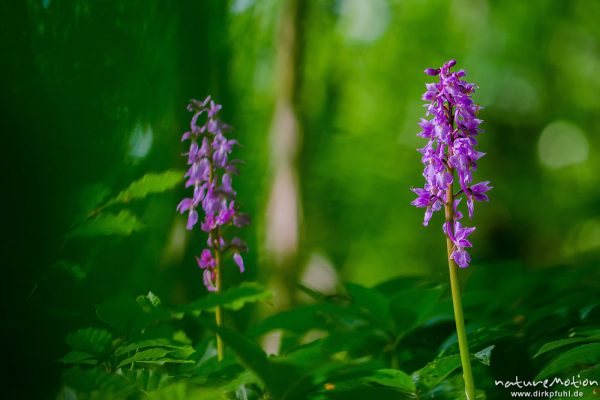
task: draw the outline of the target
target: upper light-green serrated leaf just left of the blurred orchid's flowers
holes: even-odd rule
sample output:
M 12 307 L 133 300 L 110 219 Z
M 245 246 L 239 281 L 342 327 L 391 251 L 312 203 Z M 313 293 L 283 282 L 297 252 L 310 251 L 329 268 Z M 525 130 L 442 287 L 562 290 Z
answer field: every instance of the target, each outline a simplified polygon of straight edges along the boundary
M 152 193 L 160 193 L 172 189 L 183 180 L 184 172 L 168 170 L 162 173 L 148 173 L 141 179 L 133 182 L 116 197 L 108 200 L 103 208 L 118 203 L 128 203 L 131 200 L 142 199 Z

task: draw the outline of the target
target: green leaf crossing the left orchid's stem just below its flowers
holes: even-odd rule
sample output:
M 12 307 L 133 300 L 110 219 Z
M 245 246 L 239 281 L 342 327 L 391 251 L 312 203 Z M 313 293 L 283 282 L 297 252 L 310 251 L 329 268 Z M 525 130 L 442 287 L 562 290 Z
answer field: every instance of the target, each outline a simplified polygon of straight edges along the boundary
M 273 297 L 271 291 L 254 282 L 245 282 L 239 286 L 232 287 L 223 293 L 210 293 L 187 306 L 184 310 L 200 314 L 203 311 L 213 311 L 217 306 L 227 310 L 239 310 L 247 303 L 270 300 Z

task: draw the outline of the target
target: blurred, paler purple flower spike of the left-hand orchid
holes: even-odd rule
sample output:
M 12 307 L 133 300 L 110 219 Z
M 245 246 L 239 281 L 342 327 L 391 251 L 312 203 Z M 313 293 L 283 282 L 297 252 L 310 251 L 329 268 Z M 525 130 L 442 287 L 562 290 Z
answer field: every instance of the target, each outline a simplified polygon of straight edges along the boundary
M 199 223 L 200 229 L 208 233 L 208 248 L 202 250 L 196 260 L 204 270 L 204 285 L 209 291 L 220 290 L 218 274 L 221 254 L 230 251 L 240 272 L 244 272 L 244 260 L 240 253 L 247 250 L 246 245 L 237 237 L 228 242 L 225 230 L 229 226 L 243 227 L 250 222 L 248 216 L 240 213 L 237 207 L 233 176 L 238 173 L 236 165 L 239 160 L 230 159 L 230 154 L 238 142 L 226 137 L 231 127 L 218 119 L 221 108 L 210 96 L 203 101 L 191 100 L 187 107 L 188 111 L 194 113 L 190 130 L 181 137 L 182 141 L 190 141 L 189 151 L 184 154 L 189 166 L 185 174 L 185 187 L 193 187 L 193 193 L 192 197 L 179 203 L 177 211 L 188 214 L 188 230 Z M 203 215 L 202 220 L 199 210 Z

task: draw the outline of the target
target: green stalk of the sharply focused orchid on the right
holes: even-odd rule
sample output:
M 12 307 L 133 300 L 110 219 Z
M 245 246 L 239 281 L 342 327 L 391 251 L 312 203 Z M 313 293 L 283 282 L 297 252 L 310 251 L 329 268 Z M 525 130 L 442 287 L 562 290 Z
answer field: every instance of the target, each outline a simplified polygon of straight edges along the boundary
M 454 170 L 449 168 L 450 174 L 454 176 Z M 453 223 L 454 219 L 454 195 L 452 184 L 449 185 L 446 196 L 446 222 Z M 463 368 L 463 379 L 465 381 L 465 393 L 467 400 L 475 400 L 475 383 L 473 381 L 473 371 L 471 370 L 471 355 L 469 353 L 469 344 L 467 342 L 467 333 L 465 331 L 465 318 L 462 310 L 462 299 L 460 296 L 460 285 L 458 282 L 458 267 L 453 259 L 453 243 L 446 235 L 446 247 L 448 250 L 448 268 L 450 272 L 450 288 L 452 291 L 452 306 L 454 307 L 454 321 L 456 322 L 456 336 L 458 337 L 458 348 L 460 351 L 460 361 Z

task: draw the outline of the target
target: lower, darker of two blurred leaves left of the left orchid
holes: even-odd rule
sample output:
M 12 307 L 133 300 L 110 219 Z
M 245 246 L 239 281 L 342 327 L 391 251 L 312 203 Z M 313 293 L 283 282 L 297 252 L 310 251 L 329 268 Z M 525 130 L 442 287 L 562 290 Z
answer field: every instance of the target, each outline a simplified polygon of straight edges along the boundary
M 102 213 L 84 221 L 67 234 L 67 238 L 93 236 L 129 236 L 142 230 L 143 225 L 138 218 L 128 210 L 118 214 Z

